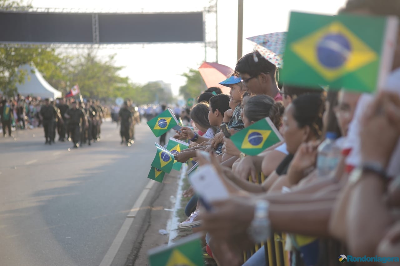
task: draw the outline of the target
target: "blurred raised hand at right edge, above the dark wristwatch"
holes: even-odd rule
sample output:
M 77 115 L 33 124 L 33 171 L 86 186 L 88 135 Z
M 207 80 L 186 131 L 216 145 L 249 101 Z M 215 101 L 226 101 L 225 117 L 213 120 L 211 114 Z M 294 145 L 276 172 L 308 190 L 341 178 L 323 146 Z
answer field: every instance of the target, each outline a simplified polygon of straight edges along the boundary
M 400 135 L 400 97 L 380 92 L 362 118 L 360 129 L 363 161 L 375 161 L 386 167 Z

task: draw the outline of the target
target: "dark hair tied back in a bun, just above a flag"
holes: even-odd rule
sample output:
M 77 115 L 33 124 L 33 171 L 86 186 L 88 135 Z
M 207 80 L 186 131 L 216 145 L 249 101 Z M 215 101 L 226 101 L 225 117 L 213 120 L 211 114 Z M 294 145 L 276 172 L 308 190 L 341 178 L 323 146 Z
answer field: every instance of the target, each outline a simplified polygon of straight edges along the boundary
M 281 118 L 285 111 L 282 102 L 274 101 L 274 98 L 268 95 L 256 95 L 248 99 L 244 106 L 244 115 L 250 121 L 258 121 L 269 117 L 276 128 L 281 126 Z

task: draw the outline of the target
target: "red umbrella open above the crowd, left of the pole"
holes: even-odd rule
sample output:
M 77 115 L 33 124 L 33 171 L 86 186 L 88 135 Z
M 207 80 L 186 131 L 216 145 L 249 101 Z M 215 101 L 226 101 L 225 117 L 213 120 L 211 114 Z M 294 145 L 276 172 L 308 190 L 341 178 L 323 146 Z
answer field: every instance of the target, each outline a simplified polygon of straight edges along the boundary
M 222 86 L 219 83 L 233 73 L 232 68 L 218 63 L 204 62 L 199 67 L 199 72 L 208 88 L 219 87 L 222 93 L 229 94 L 230 88 Z

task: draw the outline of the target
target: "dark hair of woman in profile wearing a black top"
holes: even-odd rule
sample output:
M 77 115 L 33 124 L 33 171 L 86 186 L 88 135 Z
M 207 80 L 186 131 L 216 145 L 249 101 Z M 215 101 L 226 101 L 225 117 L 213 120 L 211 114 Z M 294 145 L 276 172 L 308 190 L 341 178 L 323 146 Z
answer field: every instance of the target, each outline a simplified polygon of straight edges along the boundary
M 318 93 L 300 95 L 292 101 L 293 117 L 298 127 L 309 126 L 316 137 L 322 135 L 322 115 L 325 109 L 325 97 Z

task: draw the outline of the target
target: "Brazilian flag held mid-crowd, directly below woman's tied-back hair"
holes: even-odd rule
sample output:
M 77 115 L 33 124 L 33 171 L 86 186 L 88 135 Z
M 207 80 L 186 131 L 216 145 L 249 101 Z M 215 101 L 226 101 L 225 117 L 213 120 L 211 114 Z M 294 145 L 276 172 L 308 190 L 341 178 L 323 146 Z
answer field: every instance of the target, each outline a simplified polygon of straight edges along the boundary
M 265 149 L 283 141 L 271 119 L 266 117 L 230 137 L 235 146 L 246 155 L 258 155 Z

